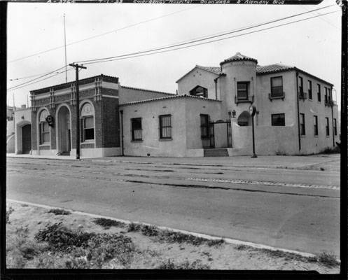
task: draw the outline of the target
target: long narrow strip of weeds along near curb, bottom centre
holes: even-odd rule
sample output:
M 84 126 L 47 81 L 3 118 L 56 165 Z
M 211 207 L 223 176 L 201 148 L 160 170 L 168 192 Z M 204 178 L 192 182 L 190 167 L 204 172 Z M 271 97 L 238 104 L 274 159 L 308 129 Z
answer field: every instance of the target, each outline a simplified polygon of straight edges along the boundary
M 202 237 L 195 237 L 194 235 L 186 235 L 181 232 L 174 232 L 172 230 L 161 230 L 155 225 L 140 225 L 136 223 L 130 223 L 128 225 L 128 232 L 141 232 L 141 234 L 148 237 L 155 237 L 160 242 L 169 243 L 183 243 L 193 244 L 195 246 L 200 246 L 202 244 L 207 244 L 208 246 L 220 246 L 224 244 L 223 239 L 205 239 Z

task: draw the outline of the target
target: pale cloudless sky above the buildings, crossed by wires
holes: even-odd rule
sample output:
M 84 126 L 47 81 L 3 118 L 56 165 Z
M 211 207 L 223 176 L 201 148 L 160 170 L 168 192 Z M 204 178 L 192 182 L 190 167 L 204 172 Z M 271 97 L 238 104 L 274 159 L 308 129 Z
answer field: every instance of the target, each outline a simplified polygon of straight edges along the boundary
M 13 97 L 15 106 L 27 104 L 30 90 L 65 83 L 63 71 L 53 78 L 11 89 L 65 65 L 64 15 L 69 64 L 221 34 L 325 6 L 330 7 L 230 36 L 320 13 L 337 13 L 192 48 L 85 64 L 87 69 L 81 70 L 79 77 L 103 73 L 118 77 L 121 85 L 175 93 L 176 80 L 196 64 L 219 66 L 224 59 L 241 52 L 256 58 L 260 65 L 297 66 L 333 83 L 340 105 L 342 13 L 333 0 L 316 6 L 8 3 L 8 105 L 13 106 Z M 55 50 L 47 51 L 50 49 Z M 75 80 L 74 70 L 67 71 L 67 80 Z

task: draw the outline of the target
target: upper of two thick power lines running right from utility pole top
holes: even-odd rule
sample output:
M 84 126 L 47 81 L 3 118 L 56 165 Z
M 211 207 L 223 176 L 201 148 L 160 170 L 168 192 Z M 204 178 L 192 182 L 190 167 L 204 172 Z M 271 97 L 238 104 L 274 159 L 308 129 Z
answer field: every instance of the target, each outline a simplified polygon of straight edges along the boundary
M 242 29 L 238 29 L 238 30 L 232 30 L 232 31 L 228 31 L 228 32 L 225 32 L 223 34 L 218 34 L 218 35 L 211 35 L 211 36 L 207 36 L 206 38 L 200 38 L 200 39 L 197 39 L 197 40 L 193 40 L 193 41 L 188 41 L 187 43 L 175 43 L 174 45 L 171 45 L 170 47 L 169 46 L 164 46 L 164 47 L 160 47 L 160 48 L 153 48 L 151 50 L 144 50 L 144 51 L 140 51 L 140 52 L 132 52 L 132 53 L 129 53 L 129 54 L 126 54 L 126 55 L 116 55 L 116 56 L 113 56 L 113 57 L 104 57 L 104 58 L 99 58 L 99 59 L 88 59 L 88 60 L 81 60 L 81 61 L 78 61 L 78 63 L 85 63 L 85 62 L 96 62 L 96 61 L 99 61 L 99 60 L 105 60 L 105 59 L 113 59 L 113 58 L 118 58 L 118 57 L 124 57 L 124 56 L 130 56 L 130 55 L 138 55 L 138 54 L 142 54 L 142 53 L 146 53 L 146 52 L 153 52 L 153 51 L 156 51 L 156 50 L 163 50 L 163 49 L 166 49 L 166 48 L 174 48 L 174 47 L 178 47 L 180 45 L 187 45 L 189 43 L 196 43 L 196 42 L 199 42 L 199 41 L 204 41 L 204 40 L 208 40 L 210 38 L 216 38 L 216 37 L 221 37 L 221 36 L 225 36 L 225 35 L 228 35 L 228 34 L 232 34 L 232 33 L 236 33 L 236 32 L 239 32 L 239 31 L 244 31 L 244 30 L 248 30 L 248 29 L 251 29 L 251 28 L 255 28 L 255 27 L 260 27 L 260 26 L 263 26 L 263 25 L 269 25 L 270 23 L 274 23 L 274 22 L 279 22 L 281 20 L 287 20 L 289 18 L 294 18 L 294 17 L 297 17 L 299 15 L 305 15 L 307 13 L 312 13 L 316 10 L 321 10 L 321 9 L 324 9 L 324 8 L 329 8 L 331 6 L 334 6 L 334 5 L 329 5 L 329 6 L 325 6 L 325 7 L 322 7 L 322 8 L 316 8 L 314 10 L 309 10 L 307 12 L 304 12 L 304 13 L 298 13 L 298 14 L 295 14 L 295 15 L 290 15 L 288 17 L 285 17 L 285 18 L 279 18 L 277 20 L 271 20 L 269 22 L 265 22 L 265 23 L 262 23 L 262 24 L 258 24 L 258 25 L 253 25 L 251 27 L 245 27 L 245 28 L 242 28 Z M 86 63 L 85 63 L 86 64 Z M 89 64 L 89 63 L 88 63 Z

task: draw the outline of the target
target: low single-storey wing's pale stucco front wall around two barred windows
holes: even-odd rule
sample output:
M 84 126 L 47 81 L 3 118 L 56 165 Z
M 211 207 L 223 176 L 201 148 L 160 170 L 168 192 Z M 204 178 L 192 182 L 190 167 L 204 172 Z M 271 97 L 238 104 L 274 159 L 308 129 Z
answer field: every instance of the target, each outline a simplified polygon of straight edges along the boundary
M 134 156 L 186 155 L 185 100 L 159 100 L 121 106 L 123 110 L 124 154 Z M 172 139 L 161 140 L 159 116 L 172 115 Z M 142 141 L 132 141 L 131 118 L 141 118 Z

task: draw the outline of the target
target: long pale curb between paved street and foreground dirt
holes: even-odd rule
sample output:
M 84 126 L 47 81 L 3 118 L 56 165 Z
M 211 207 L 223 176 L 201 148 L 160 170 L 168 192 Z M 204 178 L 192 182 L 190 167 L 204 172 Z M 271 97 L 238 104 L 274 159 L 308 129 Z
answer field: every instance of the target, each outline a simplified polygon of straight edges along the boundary
M 150 224 L 150 223 L 142 223 L 139 221 L 128 221 L 128 220 L 123 220 L 120 218 L 113 218 L 110 216 L 102 216 L 102 215 L 97 215 L 97 214 L 90 214 L 87 212 L 82 212 L 82 211 L 75 211 L 75 210 L 71 210 L 71 209 L 65 209 L 65 208 L 61 208 L 61 207 L 51 207 L 48 205 L 44 205 L 44 204 L 36 204 L 36 203 L 32 203 L 32 202 L 24 202 L 24 201 L 20 201 L 20 200 L 11 200 L 11 199 L 6 199 L 6 201 L 8 202 L 15 202 L 18 204 L 27 204 L 33 207 L 39 207 L 39 208 L 44 208 L 44 209 L 64 209 L 67 211 L 71 211 L 71 213 L 73 214 L 78 214 L 78 215 L 82 215 L 82 216 L 89 216 L 92 218 L 107 218 L 113 221 L 117 221 L 120 223 L 125 223 L 125 224 L 130 224 L 130 223 L 137 223 L 137 224 L 141 224 L 141 225 L 155 225 L 155 224 Z M 316 257 L 316 255 L 312 254 L 312 253 L 305 253 L 305 252 L 300 252 L 300 251 L 294 251 L 294 250 L 289 250 L 289 249 L 285 249 L 285 248 L 277 248 L 277 247 L 272 247 L 272 246 L 268 246 L 268 245 L 263 245 L 263 244 L 257 244 L 257 243 L 253 243 L 253 242 L 249 242 L 249 241 L 242 241 L 242 240 L 238 240 L 238 239 L 232 239 L 232 238 L 228 238 L 228 237 L 216 237 L 216 236 L 212 236 L 212 235 L 205 235 L 203 233 L 198 233 L 198 232 L 190 232 L 187 230 L 179 230 L 176 228 L 168 228 L 165 226 L 160 226 L 160 225 L 155 225 L 157 228 L 159 228 L 160 230 L 170 230 L 172 232 L 180 232 L 183 233 L 185 235 L 193 235 L 195 237 L 202 237 L 204 239 L 209 239 L 209 240 L 220 240 L 223 239 L 226 243 L 228 244 L 234 244 L 234 245 L 245 245 L 245 246 L 251 246 L 253 248 L 259 248 L 259 249 L 266 249 L 266 250 L 270 250 L 270 251 L 282 251 L 284 253 L 293 253 L 296 255 L 301 255 L 302 257 L 305 258 L 310 258 L 310 257 Z M 338 260 L 340 261 L 340 260 Z

